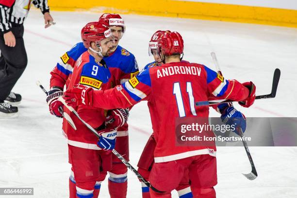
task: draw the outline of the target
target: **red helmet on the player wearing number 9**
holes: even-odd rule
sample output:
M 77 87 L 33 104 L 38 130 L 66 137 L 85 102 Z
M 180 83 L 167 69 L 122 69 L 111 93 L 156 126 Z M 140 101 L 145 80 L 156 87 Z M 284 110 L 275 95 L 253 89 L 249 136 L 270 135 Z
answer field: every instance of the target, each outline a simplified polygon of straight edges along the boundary
M 91 42 L 100 45 L 101 40 L 112 36 L 112 34 L 106 25 L 100 22 L 90 22 L 82 28 L 81 36 L 84 47 L 89 48 Z

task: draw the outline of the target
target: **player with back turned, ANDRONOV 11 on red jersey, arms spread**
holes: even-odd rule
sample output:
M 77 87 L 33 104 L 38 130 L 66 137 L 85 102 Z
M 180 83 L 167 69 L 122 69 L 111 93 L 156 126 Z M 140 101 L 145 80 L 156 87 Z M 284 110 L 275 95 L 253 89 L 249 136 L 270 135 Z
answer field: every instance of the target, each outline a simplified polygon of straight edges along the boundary
M 165 191 L 158 194 L 149 189 L 151 198 L 170 198 L 170 192 L 187 171 L 195 198 L 215 198 L 215 146 L 176 146 L 175 120 L 178 117 L 207 118 L 209 108 L 194 106 L 194 101 L 206 101 L 211 95 L 243 101 L 239 104 L 249 107 L 255 100 L 255 85 L 227 80 L 204 65 L 181 62 L 183 40 L 177 32 L 165 32 L 158 39 L 157 50 L 165 63 L 162 66 L 149 68 L 110 90 L 83 88 L 82 94 L 82 89 L 75 87 L 68 90 L 64 98 L 73 107 L 81 105 L 83 99 L 85 108 L 107 109 L 127 108 L 142 100 L 150 101 L 156 148 L 149 181 L 156 189 Z M 222 117 L 226 123 L 235 122 L 234 132 L 238 132 L 244 117 L 238 111 L 228 109 Z M 234 117 L 234 114 L 238 116 Z

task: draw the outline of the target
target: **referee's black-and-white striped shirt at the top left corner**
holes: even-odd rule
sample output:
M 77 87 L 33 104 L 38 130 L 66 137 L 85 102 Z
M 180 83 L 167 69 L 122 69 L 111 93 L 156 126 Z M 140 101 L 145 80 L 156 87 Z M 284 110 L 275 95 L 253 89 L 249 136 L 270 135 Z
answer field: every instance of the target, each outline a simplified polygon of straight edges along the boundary
M 48 0 L 0 0 L 0 31 L 11 31 L 13 23 L 22 24 L 28 16 L 31 5 L 49 12 Z

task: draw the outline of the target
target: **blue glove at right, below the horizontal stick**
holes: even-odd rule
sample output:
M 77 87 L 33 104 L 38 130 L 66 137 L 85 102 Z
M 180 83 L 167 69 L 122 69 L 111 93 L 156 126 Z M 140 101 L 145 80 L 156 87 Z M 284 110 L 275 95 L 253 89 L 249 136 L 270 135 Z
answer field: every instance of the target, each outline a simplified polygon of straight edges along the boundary
M 231 128 L 235 128 L 232 132 L 240 135 L 240 128 L 243 133 L 246 131 L 247 121 L 244 114 L 236 110 L 234 107 L 226 107 L 221 112 L 223 112 L 221 115 L 222 122 L 225 123 L 225 125 L 231 126 Z

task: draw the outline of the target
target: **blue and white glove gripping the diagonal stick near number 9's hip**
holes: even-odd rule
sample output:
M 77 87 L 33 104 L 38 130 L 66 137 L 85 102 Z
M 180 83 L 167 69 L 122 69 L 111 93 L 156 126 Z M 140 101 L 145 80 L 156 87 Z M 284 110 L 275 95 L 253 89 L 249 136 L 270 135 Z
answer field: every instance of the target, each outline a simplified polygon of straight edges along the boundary
M 115 148 L 116 130 L 114 128 L 106 128 L 98 131 L 101 135 L 97 145 L 104 151 L 113 150 Z

